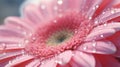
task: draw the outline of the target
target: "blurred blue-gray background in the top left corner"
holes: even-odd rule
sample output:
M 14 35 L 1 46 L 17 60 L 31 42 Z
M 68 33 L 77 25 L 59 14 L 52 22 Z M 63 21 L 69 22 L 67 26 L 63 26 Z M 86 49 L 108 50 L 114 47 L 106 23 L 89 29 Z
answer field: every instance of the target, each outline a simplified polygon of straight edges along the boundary
M 8 16 L 19 16 L 19 7 L 24 0 L 0 0 L 0 24 Z

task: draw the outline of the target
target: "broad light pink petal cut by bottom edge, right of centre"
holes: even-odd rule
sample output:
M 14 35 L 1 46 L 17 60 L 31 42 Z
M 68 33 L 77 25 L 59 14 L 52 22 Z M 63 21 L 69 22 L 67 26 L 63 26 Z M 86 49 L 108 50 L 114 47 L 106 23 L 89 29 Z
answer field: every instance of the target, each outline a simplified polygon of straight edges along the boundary
M 75 51 L 72 59 L 76 62 L 77 67 L 95 67 L 95 59 L 91 54 Z

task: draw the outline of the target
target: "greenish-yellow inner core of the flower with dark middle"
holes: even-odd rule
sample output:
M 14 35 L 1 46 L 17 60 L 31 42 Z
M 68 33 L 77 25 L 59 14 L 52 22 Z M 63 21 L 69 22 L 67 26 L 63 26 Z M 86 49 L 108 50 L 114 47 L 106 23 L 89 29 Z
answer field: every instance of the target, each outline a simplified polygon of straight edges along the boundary
M 53 33 L 46 40 L 46 44 L 49 46 L 57 46 L 65 41 L 67 41 L 72 36 L 73 36 L 73 33 L 69 30 L 57 31 L 56 33 Z

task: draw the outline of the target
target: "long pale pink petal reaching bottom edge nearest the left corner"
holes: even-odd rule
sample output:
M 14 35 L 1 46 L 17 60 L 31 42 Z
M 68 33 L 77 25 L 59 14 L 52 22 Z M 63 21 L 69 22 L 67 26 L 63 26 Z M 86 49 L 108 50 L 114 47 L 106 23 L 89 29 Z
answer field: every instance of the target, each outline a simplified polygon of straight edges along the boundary
M 22 56 L 19 56 L 19 57 L 15 58 L 14 60 L 11 60 L 5 67 L 12 67 L 12 66 L 15 66 L 17 64 L 28 61 L 30 59 L 33 59 L 33 58 L 34 57 L 30 56 L 30 55 L 22 55 Z

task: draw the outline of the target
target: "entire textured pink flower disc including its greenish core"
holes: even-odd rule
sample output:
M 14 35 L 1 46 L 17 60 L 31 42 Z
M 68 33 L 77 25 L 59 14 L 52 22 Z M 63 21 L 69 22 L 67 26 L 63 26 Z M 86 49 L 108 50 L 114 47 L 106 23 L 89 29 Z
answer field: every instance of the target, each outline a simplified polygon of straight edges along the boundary
M 53 20 L 40 24 L 28 38 L 25 50 L 29 54 L 45 59 L 65 50 L 75 50 L 93 28 L 80 12 L 66 12 Z

